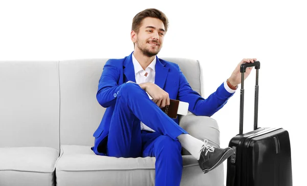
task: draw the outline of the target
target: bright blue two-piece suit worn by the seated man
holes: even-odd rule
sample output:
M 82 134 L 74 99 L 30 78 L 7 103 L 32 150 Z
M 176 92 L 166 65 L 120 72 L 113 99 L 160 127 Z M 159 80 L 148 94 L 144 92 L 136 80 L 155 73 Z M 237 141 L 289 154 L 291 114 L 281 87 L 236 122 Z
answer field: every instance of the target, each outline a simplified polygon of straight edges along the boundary
M 156 157 L 156 185 L 179 185 L 182 173 L 181 144 L 177 136 L 187 134 L 177 119 L 168 117 L 135 80 L 133 52 L 122 59 L 109 59 L 99 79 L 97 100 L 106 108 L 94 132 L 92 150 L 113 157 Z M 157 56 L 156 56 L 157 57 Z M 193 91 L 175 63 L 156 58 L 155 84 L 170 99 L 189 103 L 195 115 L 212 116 L 233 95 L 223 84 L 207 99 Z M 140 121 L 156 132 L 141 131 Z M 167 162 L 167 163 L 166 163 Z M 165 172 L 166 170 L 173 170 Z

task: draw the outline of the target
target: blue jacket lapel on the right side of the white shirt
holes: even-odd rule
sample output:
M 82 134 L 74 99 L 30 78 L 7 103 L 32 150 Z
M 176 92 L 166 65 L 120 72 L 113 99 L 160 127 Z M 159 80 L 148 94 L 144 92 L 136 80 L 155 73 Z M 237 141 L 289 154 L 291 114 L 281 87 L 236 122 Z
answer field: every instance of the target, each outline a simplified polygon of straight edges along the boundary
M 161 89 L 164 88 L 164 84 L 168 74 L 168 68 L 164 67 L 165 65 L 166 63 L 164 61 L 160 61 L 159 58 L 157 57 L 156 67 L 155 67 L 156 68 L 155 84 L 158 85 Z

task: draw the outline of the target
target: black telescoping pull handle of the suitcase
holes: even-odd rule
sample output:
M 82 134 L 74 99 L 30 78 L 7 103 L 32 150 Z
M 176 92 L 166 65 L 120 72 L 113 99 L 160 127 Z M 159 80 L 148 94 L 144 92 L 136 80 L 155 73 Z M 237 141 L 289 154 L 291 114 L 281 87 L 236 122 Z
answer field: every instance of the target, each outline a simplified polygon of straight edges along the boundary
M 244 112 L 244 73 L 246 68 L 255 67 L 256 69 L 256 85 L 255 85 L 255 108 L 254 108 L 254 130 L 258 128 L 258 94 L 259 94 L 259 86 L 258 86 L 258 78 L 259 78 L 259 69 L 260 62 L 254 61 L 254 63 L 244 63 L 240 66 L 241 72 L 241 90 L 240 90 L 240 129 L 239 134 L 243 134 L 243 112 Z

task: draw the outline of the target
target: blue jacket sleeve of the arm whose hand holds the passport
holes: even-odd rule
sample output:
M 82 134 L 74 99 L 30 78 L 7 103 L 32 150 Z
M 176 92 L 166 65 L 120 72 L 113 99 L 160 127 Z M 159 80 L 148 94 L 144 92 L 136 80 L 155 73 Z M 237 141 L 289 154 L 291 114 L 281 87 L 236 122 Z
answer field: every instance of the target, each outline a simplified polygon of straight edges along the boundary
M 118 91 L 124 85 L 118 85 L 119 78 L 119 69 L 112 64 L 112 59 L 107 60 L 99 79 L 96 94 L 96 98 L 102 107 L 107 108 L 115 105 Z

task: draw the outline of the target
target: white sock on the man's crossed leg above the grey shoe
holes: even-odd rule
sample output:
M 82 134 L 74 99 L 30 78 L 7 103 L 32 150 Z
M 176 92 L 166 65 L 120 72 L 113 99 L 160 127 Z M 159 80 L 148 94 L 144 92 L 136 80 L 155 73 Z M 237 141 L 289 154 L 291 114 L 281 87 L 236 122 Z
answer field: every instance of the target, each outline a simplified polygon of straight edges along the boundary
M 197 160 L 200 159 L 201 149 L 204 144 L 204 141 L 194 138 L 189 134 L 180 134 L 178 137 L 181 146 L 185 148 L 189 153 L 194 156 Z

